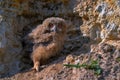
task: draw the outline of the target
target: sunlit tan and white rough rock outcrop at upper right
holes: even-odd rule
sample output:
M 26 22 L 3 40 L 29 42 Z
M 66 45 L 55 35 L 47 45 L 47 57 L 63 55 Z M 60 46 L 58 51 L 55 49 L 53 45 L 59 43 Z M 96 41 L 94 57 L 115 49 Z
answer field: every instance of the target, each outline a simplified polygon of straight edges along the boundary
M 95 41 L 120 39 L 119 0 L 91 1 L 79 2 L 74 10 L 84 21 L 81 26 L 82 33 Z

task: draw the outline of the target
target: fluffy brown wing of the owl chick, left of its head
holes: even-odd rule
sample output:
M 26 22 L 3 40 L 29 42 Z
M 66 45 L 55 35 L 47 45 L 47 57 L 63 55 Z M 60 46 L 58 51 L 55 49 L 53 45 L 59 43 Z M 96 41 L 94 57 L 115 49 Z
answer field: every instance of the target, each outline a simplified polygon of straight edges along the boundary
M 34 30 L 32 30 L 31 33 L 28 34 L 28 37 L 30 40 L 32 40 L 33 43 L 37 44 L 51 41 L 53 34 L 46 32 L 46 27 L 38 25 Z

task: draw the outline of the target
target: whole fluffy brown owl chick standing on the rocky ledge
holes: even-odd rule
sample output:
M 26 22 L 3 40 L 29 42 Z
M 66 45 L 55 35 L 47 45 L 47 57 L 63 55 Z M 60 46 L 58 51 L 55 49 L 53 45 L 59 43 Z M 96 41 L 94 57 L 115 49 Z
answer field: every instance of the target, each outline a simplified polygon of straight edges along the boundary
M 39 71 L 39 66 L 45 60 L 55 56 L 62 49 L 66 36 L 66 27 L 64 19 L 51 17 L 45 19 L 41 25 L 29 34 L 34 43 L 31 55 L 34 63 L 33 69 Z

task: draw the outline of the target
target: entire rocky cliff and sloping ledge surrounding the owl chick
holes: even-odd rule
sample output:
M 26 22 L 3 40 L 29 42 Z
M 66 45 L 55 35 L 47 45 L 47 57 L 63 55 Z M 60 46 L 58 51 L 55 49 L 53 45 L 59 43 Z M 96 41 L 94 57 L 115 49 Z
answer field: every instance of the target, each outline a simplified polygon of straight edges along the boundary
M 33 45 L 26 36 L 53 16 L 67 21 L 66 43 L 59 57 L 35 73 L 29 70 Z M 1 80 L 120 80 L 119 76 L 120 0 L 0 0 Z

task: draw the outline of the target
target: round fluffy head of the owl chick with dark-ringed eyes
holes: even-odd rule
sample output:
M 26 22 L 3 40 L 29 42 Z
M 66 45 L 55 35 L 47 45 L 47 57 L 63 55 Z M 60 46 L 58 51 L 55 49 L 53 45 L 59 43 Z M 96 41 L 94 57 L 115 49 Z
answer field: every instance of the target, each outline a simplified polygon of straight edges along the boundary
M 58 33 L 63 34 L 66 32 L 66 22 L 62 18 L 51 17 L 47 18 L 43 22 L 44 27 L 46 28 L 45 33 Z

